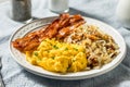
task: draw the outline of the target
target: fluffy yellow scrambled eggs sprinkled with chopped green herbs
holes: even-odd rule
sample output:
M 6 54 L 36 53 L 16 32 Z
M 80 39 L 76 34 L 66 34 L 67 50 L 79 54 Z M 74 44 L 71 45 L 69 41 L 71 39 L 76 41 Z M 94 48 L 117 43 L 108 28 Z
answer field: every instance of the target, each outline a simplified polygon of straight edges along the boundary
M 51 72 L 78 72 L 87 67 L 83 46 L 65 44 L 55 39 L 44 39 L 36 51 L 27 51 L 26 59 L 31 64 Z

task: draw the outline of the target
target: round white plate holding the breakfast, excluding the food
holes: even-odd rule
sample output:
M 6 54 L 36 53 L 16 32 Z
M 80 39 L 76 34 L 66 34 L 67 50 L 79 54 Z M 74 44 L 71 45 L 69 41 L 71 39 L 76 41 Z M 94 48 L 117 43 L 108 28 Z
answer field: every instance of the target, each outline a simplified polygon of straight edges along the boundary
M 83 79 L 83 78 L 90 78 L 90 77 L 94 77 L 101 74 L 104 74 L 110 70 L 113 70 L 114 67 L 116 67 L 125 58 L 126 55 L 126 42 L 122 38 L 122 36 L 112 26 L 90 18 L 90 17 L 84 17 L 84 20 L 89 23 L 89 24 L 94 24 L 98 25 L 99 27 L 101 27 L 101 29 L 103 32 L 105 32 L 106 34 L 110 35 L 114 40 L 118 44 L 119 46 L 119 50 L 120 53 L 108 64 L 104 65 L 103 67 L 101 67 L 100 70 L 90 70 L 90 71 L 83 71 L 83 72 L 77 72 L 77 73 L 67 73 L 67 74 L 58 74 L 58 73 L 53 73 L 53 72 L 49 72 L 46 71 L 39 66 L 35 66 L 31 65 L 30 63 L 28 63 L 25 59 L 25 54 L 21 53 L 18 50 L 16 50 L 15 48 L 13 48 L 11 41 L 13 41 L 16 38 L 23 37 L 24 35 L 26 35 L 29 32 L 32 32 L 34 29 L 37 29 L 50 22 L 52 22 L 55 18 L 55 16 L 52 17 L 47 17 L 47 18 L 42 18 L 42 20 L 38 20 L 35 21 L 32 23 L 29 23 L 23 27 L 21 27 L 20 29 L 17 29 L 11 37 L 10 39 L 10 52 L 13 57 L 13 59 L 20 64 L 22 65 L 25 70 L 43 76 L 43 77 L 49 77 L 49 78 L 54 78 L 54 79 Z

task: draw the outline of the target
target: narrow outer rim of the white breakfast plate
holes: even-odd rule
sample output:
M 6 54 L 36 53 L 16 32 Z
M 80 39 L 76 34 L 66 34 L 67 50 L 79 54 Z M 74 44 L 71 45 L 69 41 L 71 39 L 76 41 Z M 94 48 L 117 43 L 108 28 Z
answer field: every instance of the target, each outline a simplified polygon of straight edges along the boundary
M 50 16 L 50 17 L 56 18 L 57 16 Z M 48 78 L 65 79 L 65 80 L 72 80 L 72 79 L 73 79 L 73 80 L 76 80 L 76 79 L 91 78 L 91 77 L 95 77 L 95 76 L 105 74 L 105 73 L 114 70 L 116 66 L 118 66 L 118 65 L 120 64 L 120 62 L 125 59 L 126 53 L 127 53 L 127 45 L 126 45 L 126 41 L 125 41 L 123 37 L 119 34 L 119 32 L 116 30 L 116 29 L 115 29 L 114 27 L 112 27 L 110 25 L 108 25 L 108 24 L 106 24 L 106 23 L 104 23 L 104 22 L 102 22 L 102 21 L 99 21 L 99 20 L 92 18 L 92 17 L 86 17 L 86 16 L 83 16 L 84 18 L 90 18 L 90 20 L 100 22 L 100 23 L 102 23 L 103 25 L 106 25 L 106 26 L 110 27 L 110 29 L 113 29 L 116 34 L 118 34 L 118 35 L 120 36 L 120 38 L 123 40 L 125 53 L 121 55 L 120 60 L 119 60 L 117 63 L 115 63 L 114 66 L 112 66 L 112 67 L 109 67 L 108 70 L 105 70 L 105 71 L 103 71 L 103 72 L 100 72 L 100 73 L 98 72 L 98 73 L 93 73 L 93 74 L 91 74 L 91 75 L 81 75 L 81 76 L 77 76 L 77 77 L 75 77 L 75 76 L 73 76 L 73 77 L 72 77 L 72 76 L 54 76 L 54 75 L 49 75 L 49 74 L 40 73 L 40 72 L 34 71 L 34 70 L 27 67 L 27 66 L 24 65 L 22 62 L 20 62 L 18 60 L 16 60 L 17 58 L 12 53 L 12 50 L 11 50 L 12 39 L 13 39 L 13 37 L 15 36 L 15 34 L 16 34 L 18 30 L 21 30 L 22 28 L 24 28 L 25 26 L 28 26 L 29 24 L 32 24 L 32 23 L 35 23 L 35 22 L 42 21 L 42 20 L 46 20 L 46 18 L 50 18 L 50 17 L 43 17 L 43 18 L 40 18 L 40 20 L 32 21 L 32 22 L 30 22 L 30 23 L 28 23 L 28 24 L 25 24 L 24 26 L 17 28 L 17 29 L 11 35 L 11 38 L 10 38 L 10 40 L 9 40 L 10 53 L 11 53 L 11 55 L 13 57 L 13 59 L 15 60 L 15 62 L 16 62 L 17 64 L 20 64 L 21 66 L 23 66 L 26 71 L 28 71 L 28 72 L 30 72 L 30 73 L 34 73 L 34 74 L 36 74 L 36 75 L 39 75 L 39 76 L 48 77 Z M 44 24 L 44 25 L 46 25 L 46 24 Z

